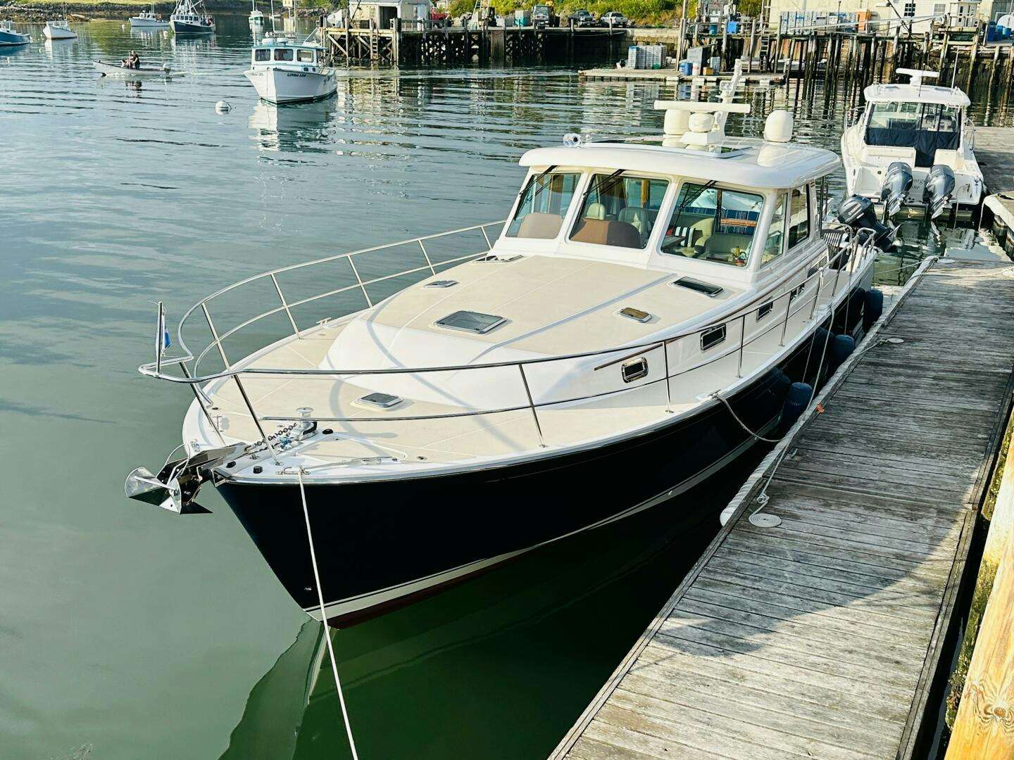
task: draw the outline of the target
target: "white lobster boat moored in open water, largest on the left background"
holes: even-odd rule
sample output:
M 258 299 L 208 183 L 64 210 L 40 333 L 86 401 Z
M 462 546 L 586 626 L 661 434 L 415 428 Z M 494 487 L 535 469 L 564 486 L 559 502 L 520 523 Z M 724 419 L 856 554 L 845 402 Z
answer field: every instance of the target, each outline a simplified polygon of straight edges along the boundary
M 295 43 L 271 33 L 254 47 L 250 68 L 243 76 L 270 103 L 319 100 L 338 89 L 338 75 L 334 67 L 323 65 L 323 54 L 315 43 Z

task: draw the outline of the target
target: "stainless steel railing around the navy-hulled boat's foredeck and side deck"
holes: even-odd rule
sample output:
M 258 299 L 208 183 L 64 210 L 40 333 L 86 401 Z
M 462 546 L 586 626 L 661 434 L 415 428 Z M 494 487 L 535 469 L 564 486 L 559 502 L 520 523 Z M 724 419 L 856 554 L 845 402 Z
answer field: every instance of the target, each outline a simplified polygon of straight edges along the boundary
M 666 411 L 671 412 L 672 411 L 671 380 L 673 378 L 680 377 L 690 372 L 694 372 L 703 367 L 707 367 L 711 364 L 714 364 L 715 362 L 721 361 L 722 359 L 726 359 L 733 354 L 738 354 L 736 378 L 737 379 L 741 378 L 743 352 L 747 347 L 749 347 L 754 341 L 760 339 L 762 337 L 768 335 L 773 330 L 779 328 L 782 331 L 779 340 L 779 346 L 784 347 L 787 337 L 786 333 L 788 330 L 789 321 L 793 316 L 799 314 L 804 309 L 809 308 L 809 315 L 807 316 L 807 320 L 810 320 L 814 317 L 817 303 L 821 296 L 821 292 L 825 290 L 823 283 L 824 273 L 827 273 L 829 271 L 835 272 L 834 282 L 829 283 L 830 292 L 832 295 L 835 295 L 839 292 L 839 285 L 840 285 L 840 280 L 843 276 L 843 271 L 846 268 L 848 268 L 848 273 L 847 273 L 848 285 L 851 286 L 853 275 L 856 272 L 856 270 L 863 262 L 866 261 L 867 257 L 870 254 L 875 253 L 876 251 L 876 248 L 874 247 L 872 230 L 860 230 L 859 232 L 854 233 L 851 229 L 841 225 L 825 227 L 821 230 L 821 234 L 826 243 L 828 244 L 828 252 L 824 260 L 821 261 L 820 264 L 817 267 L 814 267 L 812 264 L 813 260 L 812 258 L 807 258 L 801 261 L 800 269 L 807 265 L 810 269 L 807 272 L 806 277 L 802 281 L 799 281 L 795 285 L 795 287 L 793 287 L 791 290 L 786 291 L 780 296 L 772 298 L 771 294 L 774 290 L 774 288 L 772 288 L 769 291 L 766 291 L 765 293 L 762 293 L 758 296 L 756 296 L 749 303 L 736 309 L 736 311 L 733 314 L 725 316 L 719 321 L 715 321 L 705 326 L 698 327 L 692 330 L 677 332 L 675 334 L 668 335 L 664 338 L 655 339 L 650 343 L 641 345 L 622 346 L 622 347 L 603 349 L 592 352 L 582 352 L 577 354 L 568 354 L 568 355 L 552 356 L 552 357 L 539 357 L 539 358 L 510 361 L 510 362 L 490 362 L 484 364 L 442 365 L 433 367 L 411 367 L 411 368 L 402 367 L 402 368 L 367 369 L 367 370 L 262 368 L 262 367 L 233 368 L 233 365 L 228 360 L 227 354 L 223 347 L 223 341 L 229 338 L 230 336 L 235 335 L 238 331 L 252 324 L 258 323 L 262 319 L 265 319 L 266 317 L 276 314 L 285 314 L 287 321 L 292 328 L 293 338 L 298 339 L 301 337 L 302 333 L 305 332 L 307 329 L 313 329 L 319 324 L 325 323 L 335 318 L 342 318 L 349 316 L 351 314 L 357 313 L 358 311 L 361 311 L 362 309 L 350 308 L 342 314 L 329 316 L 324 319 L 318 320 L 314 324 L 307 325 L 306 327 L 301 329 L 295 315 L 293 314 L 293 310 L 296 309 L 297 307 L 313 303 L 321 299 L 341 295 L 343 293 L 348 293 L 358 290 L 360 291 L 366 303 L 366 307 L 371 308 L 372 306 L 375 305 L 375 301 L 371 297 L 370 291 L 368 290 L 370 286 L 375 286 L 379 283 L 389 282 L 397 278 L 414 278 L 414 280 L 412 281 L 413 283 L 419 282 L 423 279 L 426 279 L 427 277 L 436 276 L 438 272 L 448 267 L 469 259 L 479 258 L 484 255 L 488 255 L 493 247 L 488 230 L 490 230 L 491 228 L 497 228 L 497 231 L 499 232 L 499 228 L 502 227 L 503 224 L 504 222 L 490 222 L 486 224 L 476 225 L 473 227 L 464 227 L 461 229 L 452 230 L 450 232 L 443 232 L 434 235 L 411 238 L 409 240 L 403 240 L 396 243 L 377 245 L 369 248 L 362 248 L 360 250 L 351 251 L 348 253 L 325 256 L 323 258 L 317 258 L 310 261 L 305 261 L 303 263 L 291 264 L 289 267 L 282 267 L 276 270 L 272 270 L 270 272 L 265 272 L 260 275 L 248 277 L 244 280 L 240 280 L 239 282 L 234 283 L 233 285 L 230 285 L 226 288 L 222 288 L 221 290 L 216 291 L 210 296 L 207 296 L 206 298 L 202 299 L 194 306 L 192 306 L 184 314 L 176 330 L 179 346 L 185 352 L 185 355 L 180 357 L 166 358 L 164 356 L 164 350 L 165 350 L 163 343 L 164 317 L 161 310 L 161 305 L 159 305 L 158 334 L 156 337 L 155 361 L 149 364 L 141 365 L 141 367 L 139 367 L 138 369 L 141 372 L 141 374 L 149 377 L 154 377 L 168 382 L 183 383 L 188 385 L 192 389 L 195 398 L 197 399 L 199 405 L 201 406 L 205 419 L 215 430 L 223 446 L 227 445 L 226 440 L 222 435 L 222 431 L 220 430 L 219 425 L 217 424 L 215 417 L 211 413 L 211 407 L 214 404 L 200 386 L 209 383 L 213 380 L 218 380 L 222 378 L 231 378 L 236 384 L 236 388 L 239 391 L 239 395 L 242 398 L 243 403 L 246 406 L 246 409 L 249 412 L 251 420 L 254 421 L 254 424 L 257 426 L 258 433 L 260 434 L 261 437 L 260 443 L 266 449 L 271 451 L 276 461 L 278 461 L 278 451 L 276 450 L 275 446 L 275 443 L 277 442 L 273 443 L 273 439 L 276 438 L 276 435 L 269 435 L 265 431 L 263 423 L 266 422 L 363 423 L 363 422 L 397 422 L 397 421 L 410 421 L 410 420 L 422 421 L 422 420 L 435 420 L 435 419 L 477 416 L 483 414 L 497 414 L 497 413 L 527 409 L 531 413 L 532 422 L 534 423 L 535 431 L 538 435 L 539 445 L 545 448 L 546 444 L 542 435 L 542 427 L 538 417 L 538 409 L 545 406 L 563 405 L 568 403 L 574 403 L 577 401 L 594 400 L 597 398 L 602 398 L 605 396 L 622 393 L 626 390 L 630 390 L 633 388 L 646 387 L 648 385 L 653 385 L 655 383 L 664 381 L 666 383 Z M 452 236 L 456 235 L 464 235 L 466 233 L 469 233 L 475 238 L 476 243 L 480 242 L 479 235 L 480 234 L 482 235 L 481 245 L 480 245 L 481 250 L 476 251 L 472 249 L 469 250 L 469 252 L 461 255 L 453 255 L 447 258 L 440 258 L 439 260 L 434 259 L 434 257 L 432 256 L 434 242 L 440 241 L 441 239 L 451 238 Z M 430 248 L 427 248 L 427 244 L 430 244 Z M 425 264 L 420 267 L 410 268 L 408 270 L 400 271 L 394 274 L 387 274 L 373 278 L 363 279 L 362 277 L 363 273 L 361 270 L 363 270 L 364 268 L 362 265 L 361 267 L 356 265 L 355 262 L 356 257 L 358 256 L 365 257 L 366 254 L 378 253 L 381 251 L 391 251 L 393 249 L 404 246 L 418 246 L 419 252 L 422 254 L 423 259 L 425 260 Z M 285 290 L 283 289 L 282 284 L 279 280 L 279 277 L 281 275 L 284 275 L 286 273 L 309 270 L 314 267 L 320 267 L 321 264 L 327 264 L 341 260 L 345 260 L 349 263 L 350 273 L 353 276 L 355 282 L 347 286 L 343 286 L 340 288 L 332 288 L 317 295 L 305 298 L 299 298 L 296 300 L 290 300 L 289 298 L 286 297 Z M 800 296 L 806 290 L 808 290 L 807 286 L 814 280 L 816 280 L 817 282 L 817 288 L 815 289 L 812 297 L 810 297 L 809 299 L 801 299 Z M 237 291 L 238 289 L 243 288 L 245 286 L 249 286 L 254 283 L 264 283 L 267 281 L 270 281 L 271 289 L 278 296 L 278 301 L 279 301 L 278 305 L 266 309 L 265 311 L 261 312 L 256 316 L 240 321 L 239 324 L 236 324 L 235 326 L 227 329 L 225 332 L 219 332 L 219 329 L 212 318 L 211 310 L 209 309 L 209 304 L 212 304 L 213 302 L 215 302 L 216 299 L 221 298 L 223 295 L 227 293 Z M 399 290 L 402 289 L 400 288 Z M 851 290 L 851 287 L 847 288 L 847 290 Z M 768 313 L 774 312 L 777 305 L 783 301 L 787 301 L 787 304 L 785 306 L 784 318 L 773 322 L 773 324 L 769 326 L 767 329 L 756 334 L 753 334 L 749 339 L 746 339 L 746 318 L 749 316 L 758 315 L 762 311 L 765 311 L 766 313 L 764 316 L 767 316 Z M 794 304 L 796 304 L 797 302 L 798 305 L 794 307 Z M 208 343 L 206 347 L 204 347 L 202 351 L 200 351 L 198 354 L 195 355 L 187 347 L 184 337 L 184 330 L 185 330 L 185 325 L 187 325 L 188 321 L 191 320 L 192 318 L 195 318 L 196 315 L 198 314 L 204 317 L 204 322 L 206 323 L 208 329 L 210 330 L 212 339 Z M 831 313 L 826 318 L 832 318 L 832 317 L 834 317 L 834 311 L 831 311 Z M 760 318 L 762 317 L 758 317 L 757 321 L 759 321 Z M 822 320 L 823 318 L 821 318 L 821 321 Z M 729 326 L 735 325 L 736 322 L 739 322 L 739 340 L 737 345 L 733 346 L 731 349 L 727 349 L 723 352 L 716 353 L 715 356 L 708 359 L 707 361 L 694 364 L 693 366 L 681 369 L 677 372 L 670 372 L 668 347 L 671 344 L 686 338 L 702 336 L 708 332 L 714 332 L 717 329 L 724 328 L 727 330 Z M 204 375 L 200 374 L 199 367 L 201 362 L 206 357 L 208 357 L 208 355 L 211 354 L 213 351 L 217 351 L 218 357 L 221 360 L 224 369 L 220 372 L 212 372 Z M 624 387 L 622 388 L 610 389 L 599 393 L 592 393 L 583 396 L 576 396 L 570 398 L 556 398 L 552 400 L 544 400 L 536 402 L 532 397 L 531 389 L 529 386 L 529 379 L 525 371 L 526 367 L 531 367 L 532 365 L 545 364 L 548 362 L 573 361 L 577 359 L 587 359 L 593 357 L 603 357 L 603 358 L 608 357 L 608 361 L 605 361 L 604 363 L 594 367 L 594 371 L 599 371 L 607 367 L 614 366 L 621 362 L 629 361 L 634 358 L 638 358 L 641 356 L 647 357 L 647 355 L 649 355 L 651 352 L 656 352 L 656 351 L 661 351 L 663 355 L 663 366 L 664 366 L 663 377 L 647 380 L 646 382 L 642 383 L 635 383 L 635 382 L 625 383 Z M 618 357 L 617 355 L 620 356 Z M 192 368 L 188 366 L 190 363 L 193 363 Z M 170 374 L 164 369 L 173 366 L 179 368 L 179 371 L 182 373 L 180 375 Z M 363 417 L 363 416 L 332 417 L 332 416 L 303 416 L 303 415 L 262 416 L 257 413 L 254 404 L 250 401 L 248 394 L 246 393 L 246 389 L 241 379 L 242 376 L 264 376 L 264 375 L 283 376 L 283 377 L 285 376 L 339 377 L 339 376 L 357 376 L 357 375 L 403 375 L 403 374 L 423 375 L 427 373 L 436 373 L 436 372 L 446 373 L 451 371 L 489 370 L 489 369 L 506 368 L 506 367 L 517 368 L 518 379 L 520 381 L 521 387 L 524 390 L 524 397 L 526 398 L 526 402 L 524 404 L 503 406 L 492 409 L 466 409 L 459 412 L 448 412 L 440 414 L 414 414 L 414 415 L 403 415 L 403 416 L 388 415 L 388 414 L 385 414 L 383 416 L 372 416 L 372 417 Z

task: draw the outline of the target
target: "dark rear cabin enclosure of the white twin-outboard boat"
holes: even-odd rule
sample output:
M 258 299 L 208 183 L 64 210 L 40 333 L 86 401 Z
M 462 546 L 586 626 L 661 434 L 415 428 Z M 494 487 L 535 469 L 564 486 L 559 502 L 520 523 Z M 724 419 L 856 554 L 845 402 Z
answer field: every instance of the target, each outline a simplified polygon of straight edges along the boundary
M 932 166 L 938 150 L 957 150 L 961 142 L 961 109 L 940 103 L 873 103 L 866 125 L 866 144 L 915 148 L 916 166 Z

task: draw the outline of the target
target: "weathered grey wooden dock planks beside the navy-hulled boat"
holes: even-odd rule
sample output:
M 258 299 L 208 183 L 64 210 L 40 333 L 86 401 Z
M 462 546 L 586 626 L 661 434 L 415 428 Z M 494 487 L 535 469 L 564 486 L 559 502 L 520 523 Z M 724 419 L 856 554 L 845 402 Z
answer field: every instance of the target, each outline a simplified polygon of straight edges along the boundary
M 1012 276 L 925 271 L 552 758 L 912 756 L 1010 405 Z

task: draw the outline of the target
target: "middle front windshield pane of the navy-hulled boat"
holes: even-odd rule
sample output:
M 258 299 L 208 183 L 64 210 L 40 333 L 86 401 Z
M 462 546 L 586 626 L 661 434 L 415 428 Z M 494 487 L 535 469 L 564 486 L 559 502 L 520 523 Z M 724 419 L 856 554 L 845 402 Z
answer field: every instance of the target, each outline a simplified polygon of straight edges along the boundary
M 594 174 L 570 239 L 579 243 L 644 248 L 668 186 L 665 179 Z

